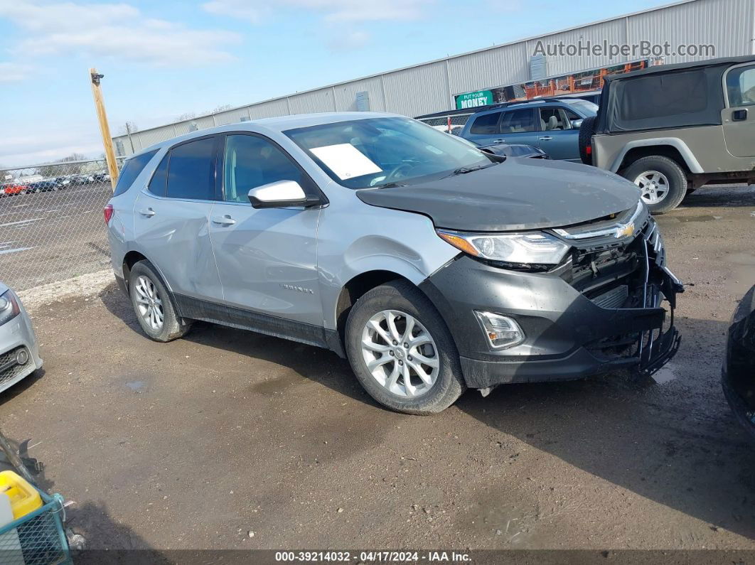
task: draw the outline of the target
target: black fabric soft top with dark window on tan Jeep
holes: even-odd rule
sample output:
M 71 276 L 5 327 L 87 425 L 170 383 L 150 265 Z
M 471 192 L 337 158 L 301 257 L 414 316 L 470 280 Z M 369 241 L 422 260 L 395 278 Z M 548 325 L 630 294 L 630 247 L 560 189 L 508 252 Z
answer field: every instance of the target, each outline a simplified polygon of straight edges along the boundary
M 607 75 L 596 133 L 720 125 L 726 106 L 723 73 L 741 63 L 755 63 L 755 56 L 651 66 Z

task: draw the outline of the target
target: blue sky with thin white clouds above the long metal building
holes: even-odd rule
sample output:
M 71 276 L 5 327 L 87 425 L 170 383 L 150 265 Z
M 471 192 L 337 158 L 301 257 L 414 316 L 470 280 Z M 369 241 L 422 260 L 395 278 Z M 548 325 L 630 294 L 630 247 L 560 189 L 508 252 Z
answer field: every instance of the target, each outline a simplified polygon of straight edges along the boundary
M 578 26 L 667 0 L 0 0 L 0 166 L 103 152 L 177 116 Z

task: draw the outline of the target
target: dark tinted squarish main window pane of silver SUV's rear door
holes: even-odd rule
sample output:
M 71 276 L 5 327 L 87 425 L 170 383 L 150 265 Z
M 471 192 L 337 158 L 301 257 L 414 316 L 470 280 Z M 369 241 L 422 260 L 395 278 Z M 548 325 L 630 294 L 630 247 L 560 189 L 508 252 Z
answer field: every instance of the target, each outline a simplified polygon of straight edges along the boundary
M 215 200 L 215 137 L 171 149 L 168 198 Z

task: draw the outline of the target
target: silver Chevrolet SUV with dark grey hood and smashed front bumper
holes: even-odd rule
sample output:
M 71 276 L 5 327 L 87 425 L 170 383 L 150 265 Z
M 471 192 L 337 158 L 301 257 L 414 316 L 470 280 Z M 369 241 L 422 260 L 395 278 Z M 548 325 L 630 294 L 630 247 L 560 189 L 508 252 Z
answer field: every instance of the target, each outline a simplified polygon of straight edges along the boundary
M 131 157 L 105 208 L 143 331 L 195 320 L 347 357 L 378 402 L 652 373 L 681 285 L 639 190 L 368 112 L 231 124 Z M 667 312 L 667 309 L 669 312 Z

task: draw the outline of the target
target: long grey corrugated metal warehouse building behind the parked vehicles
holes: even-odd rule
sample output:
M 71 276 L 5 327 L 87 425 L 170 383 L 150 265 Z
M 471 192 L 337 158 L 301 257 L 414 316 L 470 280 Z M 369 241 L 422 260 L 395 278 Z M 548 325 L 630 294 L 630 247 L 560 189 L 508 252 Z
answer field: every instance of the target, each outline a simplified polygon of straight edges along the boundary
M 439 39 L 442 41 L 442 39 Z M 538 54 L 541 45 L 713 45 L 716 57 L 755 53 L 755 0 L 686 0 L 541 35 L 329 84 L 310 91 L 263 100 L 113 138 L 119 155 L 130 155 L 190 131 L 236 121 L 307 112 L 372 110 L 408 116 L 443 112 L 458 106 L 460 94 L 524 84 L 535 79 L 574 75 L 637 61 L 642 57 L 608 53 Z M 672 54 L 663 63 L 710 58 L 710 54 Z M 655 61 L 657 62 L 657 61 Z

